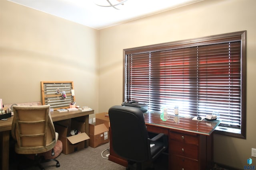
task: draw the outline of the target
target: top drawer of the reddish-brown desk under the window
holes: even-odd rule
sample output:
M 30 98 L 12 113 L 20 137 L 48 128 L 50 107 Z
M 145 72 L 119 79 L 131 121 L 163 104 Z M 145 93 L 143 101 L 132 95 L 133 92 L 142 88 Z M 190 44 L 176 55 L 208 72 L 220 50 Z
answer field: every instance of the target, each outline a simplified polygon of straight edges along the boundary
M 198 136 L 197 135 L 187 135 L 185 133 L 176 133 L 176 132 L 169 132 L 169 139 L 180 141 L 192 145 L 198 145 Z

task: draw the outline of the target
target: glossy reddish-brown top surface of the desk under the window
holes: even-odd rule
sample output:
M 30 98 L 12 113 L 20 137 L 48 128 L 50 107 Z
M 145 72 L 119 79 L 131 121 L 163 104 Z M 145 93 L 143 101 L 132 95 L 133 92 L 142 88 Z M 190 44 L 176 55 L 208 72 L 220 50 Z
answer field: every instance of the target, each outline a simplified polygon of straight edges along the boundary
M 192 133 L 198 133 L 202 135 L 210 135 L 214 129 L 220 124 L 220 121 L 197 121 L 192 120 L 193 117 L 183 117 L 168 115 L 169 119 L 162 121 L 160 119 L 160 113 L 144 113 L 146 125 L 154 125 L 158 127 L 166 127 L 168 129 L 176 129 L 182 131 L 188 131 Z

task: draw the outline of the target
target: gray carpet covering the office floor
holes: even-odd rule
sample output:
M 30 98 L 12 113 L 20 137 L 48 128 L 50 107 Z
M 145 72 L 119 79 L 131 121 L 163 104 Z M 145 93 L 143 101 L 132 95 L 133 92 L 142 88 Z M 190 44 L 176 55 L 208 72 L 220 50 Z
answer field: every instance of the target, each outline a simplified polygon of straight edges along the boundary
M 56 168 L 55 161 L 42 163 L 42 166 L 46 170 L 126 170 L 126 167 L 102 157 L 105 157 L 106 154 L 109 153 L 109 150 L 106 150 L 108 148 L 109 143 L 106 143 L 96 148 L 87 147 L 67 155 L 61 153 L 56 158 L 60 162 L 60 167 Z M 28 159 L 22 155 L 16 154 L 14 151 L 14 145 L 11 144 L 9 160 L 9 169 L 17 170 L 19 162 L 26 164 Z M 161 154 L 154 161 L 154 169 L 168 170 L 168 154 Z M 39 168 L 33 166 L 26 170 L 39 170 Z

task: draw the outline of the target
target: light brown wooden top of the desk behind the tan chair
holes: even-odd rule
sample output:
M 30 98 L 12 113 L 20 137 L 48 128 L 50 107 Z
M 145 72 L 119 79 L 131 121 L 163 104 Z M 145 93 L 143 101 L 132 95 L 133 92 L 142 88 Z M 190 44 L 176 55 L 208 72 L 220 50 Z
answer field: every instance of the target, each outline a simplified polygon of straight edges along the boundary
M 58 112 L 58 111 L 53 111 L 51 112 L 52 116 L 52 121 L 60 121 L 60 120 L 65 120 L 65 119 L 71 119 L 74 117 L 80 117 L 80 116 L 85 116 L 85 115 L 90 115 L 93 114 L 94 110 L 90 111 L 65 111 L 65 112 Z M 0 132 L 2 131 L 10 131 L 12 129 L 12 117 L 7 118 L 7 121 L 2 121 L 0 120 Z

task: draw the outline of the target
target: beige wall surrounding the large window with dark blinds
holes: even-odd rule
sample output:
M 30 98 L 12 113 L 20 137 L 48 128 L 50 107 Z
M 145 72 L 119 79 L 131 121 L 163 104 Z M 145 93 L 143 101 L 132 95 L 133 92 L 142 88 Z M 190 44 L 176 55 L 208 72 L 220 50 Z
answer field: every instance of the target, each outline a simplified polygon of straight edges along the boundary
M 247 137 L 214 134 L 214 161 L 244 169 L 256 148 L 256 1 L 204 0 L 100 30 L 99 110 L 122 103 L 123 49 L 247 30 Z M 252 158 L 254 165 L 256 158 Z

